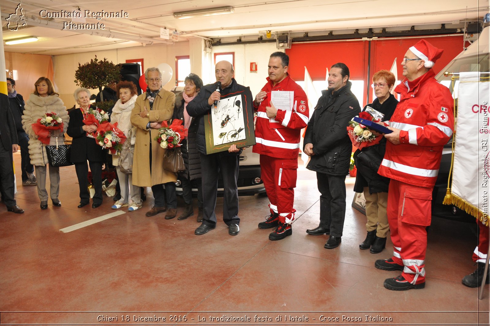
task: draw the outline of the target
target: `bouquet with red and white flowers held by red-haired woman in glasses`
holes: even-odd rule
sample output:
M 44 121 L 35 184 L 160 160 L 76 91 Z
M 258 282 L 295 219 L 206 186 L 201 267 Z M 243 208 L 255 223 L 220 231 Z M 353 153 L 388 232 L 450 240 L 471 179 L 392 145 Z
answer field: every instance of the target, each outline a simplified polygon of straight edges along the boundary
M 370 107 L 367 107 L 366 110 L 359 113 L 359 118 L 373 122 L 381 122 L 383 116 L 383 113 Z M 385 122 L 383 122 L 383 124 L 388 126 Z M 368 127 L 354 120 L 349 121 L 347 134 L 349 135 L 352 144 L 359 149 L 377 144 L 383 137 L 383 135 L 374 135 Z

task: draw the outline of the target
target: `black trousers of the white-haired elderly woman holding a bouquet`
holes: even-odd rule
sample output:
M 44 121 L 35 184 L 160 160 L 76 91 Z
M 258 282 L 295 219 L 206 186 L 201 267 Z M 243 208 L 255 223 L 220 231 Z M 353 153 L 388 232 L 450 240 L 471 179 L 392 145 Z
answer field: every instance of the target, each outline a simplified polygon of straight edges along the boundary
M 102 164 L 103 162 L 89 161 L 90 171 L 92 172 L 92 185 L 95 189 L 94 204 L 102 203 Z M 80 187 L 80 203 L 88 203 L 90 201 L 90 192 L 87 189 L 89 185 L 87 180 L 89 173 L 87 162 L 75 163 L 75 172 L 78 178 L 78 186 Z

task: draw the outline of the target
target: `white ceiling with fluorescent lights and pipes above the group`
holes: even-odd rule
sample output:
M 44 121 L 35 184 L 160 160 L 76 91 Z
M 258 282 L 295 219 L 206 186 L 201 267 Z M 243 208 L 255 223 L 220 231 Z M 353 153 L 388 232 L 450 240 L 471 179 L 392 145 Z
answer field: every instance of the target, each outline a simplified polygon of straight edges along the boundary
M 25 29 L 8 30 L 5 18 L 15 12 L 20 0 L 1 0 L 3 40 L 37 36 L 38 42 L 4 45 L 4 51 L 37 54 L 69 54 L 139 46 L 142 43 L 169 43 L 161 39 L 160 27 L 176 29 L 179 41 L 190 36 L 205 38 L 240 37 L 274 31 L 329 31 L 354 28 L 406 27 L 437 24 L 461 26 L 481 20 L 489 12 L 489 0 L 23 0 Z M 175 19 L 172 13 L 220 6 L 233 6 L 226 15 Z M 71 18 L 43 19 L 39 13 L 70 11 L 128 13 L 128 18 L 87 18 L 86 23 L 102 23 L 105 29 L 61 30 Z M 447 27 L 447 26 L 446 26 Z M 170 42 L 172 43 L 172 42 Z

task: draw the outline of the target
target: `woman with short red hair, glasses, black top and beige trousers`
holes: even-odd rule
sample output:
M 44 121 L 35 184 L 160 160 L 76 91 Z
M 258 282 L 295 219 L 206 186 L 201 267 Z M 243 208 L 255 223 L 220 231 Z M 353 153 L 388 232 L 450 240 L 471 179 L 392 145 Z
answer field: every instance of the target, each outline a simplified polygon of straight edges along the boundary
M 372 77 L 376 98 L 366 107 L 371 107 L 384 114 L 383 121 L 390 120 L 398 104 L 398 101 L 390 93 L 395 83 L 395 76 L 388 70 L 380 70 Z M 354 161 L 357 167 L 356 183 L 354 191 L 363 192 L 366 198 L 366 240 L 359 245 L 361 249 L 369 249 L 371 253 L 379 253 L 386 246 L 386 236 L 390 230 L 386 206 L 388 203 L 388 184 L 390 179 L 378 174 L 378 168 L 383 161 L 386 149 L 386 138 L 380 142 L 364 147 L 354 153 Z

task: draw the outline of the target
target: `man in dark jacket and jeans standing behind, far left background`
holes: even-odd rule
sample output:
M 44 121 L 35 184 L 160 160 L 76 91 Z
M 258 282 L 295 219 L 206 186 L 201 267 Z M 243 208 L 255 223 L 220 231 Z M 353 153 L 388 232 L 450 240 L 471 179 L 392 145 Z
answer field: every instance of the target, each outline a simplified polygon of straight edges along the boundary
M 29 157 L 29 136 L 22 128 L 22 115 L 24 114 L 24 98 L 15 90 L 15 81 L 7 78 L 8 100 L 10 102 L 10 110 L 14 118 L 15 128 L 17 129 L 17 138 L 21 146 L 21 170 L 22 170 L 22 185 L 36 186 L 36 177 L 34 176 L 34 166 L 30 163 Z

